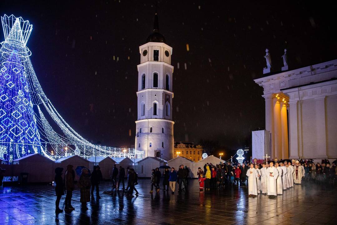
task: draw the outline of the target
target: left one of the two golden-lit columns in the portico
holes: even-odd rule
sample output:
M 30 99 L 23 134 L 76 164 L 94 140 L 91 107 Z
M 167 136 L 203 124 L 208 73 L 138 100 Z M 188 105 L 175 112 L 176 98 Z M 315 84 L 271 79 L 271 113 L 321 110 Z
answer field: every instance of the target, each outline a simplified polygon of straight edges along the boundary
M 274 100 L 274 142 L 275 153 L 272 158 L 282 158 L 282 131 L 281 131 L 281 100 Z

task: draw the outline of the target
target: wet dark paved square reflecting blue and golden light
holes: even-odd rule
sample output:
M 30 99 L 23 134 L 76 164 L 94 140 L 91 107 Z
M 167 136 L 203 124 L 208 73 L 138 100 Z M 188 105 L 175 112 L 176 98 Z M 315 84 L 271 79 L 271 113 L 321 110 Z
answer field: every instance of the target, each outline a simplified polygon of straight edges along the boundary
M 336 224 L 336 188 L 296 185 L 276 199 L 266 195 L 249 198 L 247 187 L 199 192 L 190 180 L 189 192 L 174 195 L 160 190 L 150 194 L 150 180 L 139 180 L 139 196 L 128 198 L 100 185 L 101 199 L 81 210 L 80 192 L 73 192 L 74 211 L 55 214 L 52 186 L 0 187 L 0 225 L 17 224 Z M 161 186 L 162 188 L 162 186 Z M 178 188 L 178 187 L 177 187 Z M 105 194 L 103 194 L 103 192 Z M 64 197 L 60 207 L 64 207 Z

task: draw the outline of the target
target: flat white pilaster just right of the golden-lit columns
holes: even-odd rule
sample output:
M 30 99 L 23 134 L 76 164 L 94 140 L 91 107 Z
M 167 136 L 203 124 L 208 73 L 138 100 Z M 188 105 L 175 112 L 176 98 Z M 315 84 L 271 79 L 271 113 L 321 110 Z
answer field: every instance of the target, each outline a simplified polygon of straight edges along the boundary
M 299 125 L 301 125 L 301 122 L 298 121 L 297 116 L 297 103 L 298 101 L 289 102 L 289 132 L 291 132 L 290 137 L 290 159 L 299 159 Z

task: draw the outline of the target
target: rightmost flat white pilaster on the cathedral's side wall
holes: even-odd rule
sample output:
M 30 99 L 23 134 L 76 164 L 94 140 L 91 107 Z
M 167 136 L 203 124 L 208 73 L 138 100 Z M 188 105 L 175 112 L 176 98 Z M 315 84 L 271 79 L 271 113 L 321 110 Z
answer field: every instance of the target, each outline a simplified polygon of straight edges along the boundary
M 316 97 L 316 134 L 317 134 L 317 159 L 327 159 L 327 136 L 325 122 L 325 96 Z

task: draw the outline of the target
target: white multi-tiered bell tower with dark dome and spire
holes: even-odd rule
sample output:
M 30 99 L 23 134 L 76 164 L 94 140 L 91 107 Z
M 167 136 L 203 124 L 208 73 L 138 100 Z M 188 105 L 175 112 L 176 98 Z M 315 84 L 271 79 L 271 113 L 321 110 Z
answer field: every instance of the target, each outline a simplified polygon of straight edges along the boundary
M 154 17 L 153 33 L 139 47 L 141 64 L 138 68 L 136 150 L 145 157 L 173 158 L 173 66 L 172 48 L 159 33 L 158 16 Z

